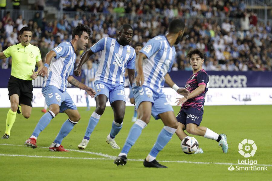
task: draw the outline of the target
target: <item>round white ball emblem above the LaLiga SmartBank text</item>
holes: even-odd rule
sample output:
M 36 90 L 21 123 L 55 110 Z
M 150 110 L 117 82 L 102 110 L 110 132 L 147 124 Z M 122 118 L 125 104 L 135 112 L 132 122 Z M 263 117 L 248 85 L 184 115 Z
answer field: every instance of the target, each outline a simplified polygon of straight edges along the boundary
M 257 146 L 253 140 L 244 139 L 238 145 L 239 153 L 245 158 L 253 157 L 256 153 Z

